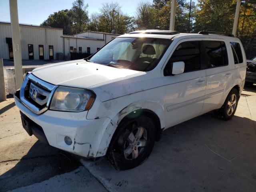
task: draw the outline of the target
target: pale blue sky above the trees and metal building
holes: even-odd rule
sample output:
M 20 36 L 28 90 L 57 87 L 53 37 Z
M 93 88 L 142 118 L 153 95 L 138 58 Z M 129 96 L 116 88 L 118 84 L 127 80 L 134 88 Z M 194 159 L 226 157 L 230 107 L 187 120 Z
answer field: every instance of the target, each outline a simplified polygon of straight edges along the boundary
M 118 2 L 122 11 L 129 16 L 134 16 L 136 6 L 141 0 L 90 0 L 86 1 L 89 16 L 99 12 L 104 2 Z M 153 0 L 147 0 L 152 3 Z M 40 25 L 53 12 L 70 9 L 74 0 L 18 0 L 19 23 Z M 0 0 L 0 21 L 10 22 L 9 0 Z

